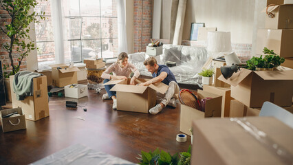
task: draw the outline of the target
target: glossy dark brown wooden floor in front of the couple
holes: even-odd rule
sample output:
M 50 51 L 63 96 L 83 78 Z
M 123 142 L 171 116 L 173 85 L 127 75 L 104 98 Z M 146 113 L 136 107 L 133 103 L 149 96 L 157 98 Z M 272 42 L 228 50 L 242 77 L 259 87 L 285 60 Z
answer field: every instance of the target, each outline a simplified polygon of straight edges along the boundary
M 30 164 L 72 144 L 138 163 L 135 157 L 142 150 L 160 148 L 173 154 L 187 151 L 191 144 L 191 137 L 184 143 L 175 140 L 180 133 L 180 106 L 166 107 L 158 115 L 116 111 L 111 100 L 102 100 L 102 94 L 93 90 L 88 97 L 78 99 L 86 112 L 81 107 L 65 107 L 65 100 L 76 99 L 52 97 L 50 117 L 26 120 L 26 130 L 0 131 L 0 164 Z

